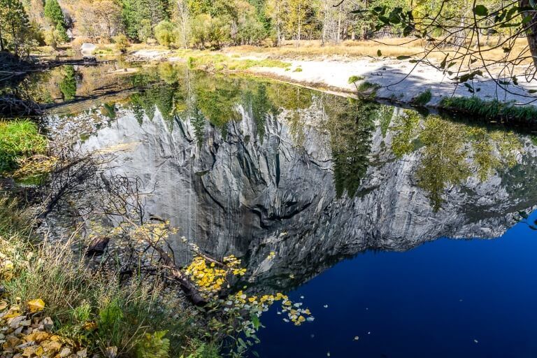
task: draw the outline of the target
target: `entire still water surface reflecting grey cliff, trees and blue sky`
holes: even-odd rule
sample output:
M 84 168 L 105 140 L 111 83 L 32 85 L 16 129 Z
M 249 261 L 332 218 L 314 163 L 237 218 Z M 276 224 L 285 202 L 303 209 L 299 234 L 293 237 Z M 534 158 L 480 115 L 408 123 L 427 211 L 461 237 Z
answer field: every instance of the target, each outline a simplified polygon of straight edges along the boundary
M 44 100 L 68 103 L 50 133 L 114 152 L 105 171 L 151 188 L 147 213 L 179 228 L 178 264 L 192 259 L 186 236 L 241 257 L 235 287 L 312 310 L 301 327 L 264 314 L 262 357 L 537 357 L 534 137 L 184 66 L 114 66 L 38 79 Z M 91 100 L 106 90 L 118 93 Z

